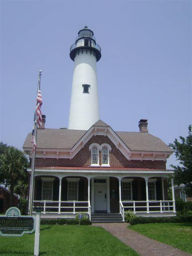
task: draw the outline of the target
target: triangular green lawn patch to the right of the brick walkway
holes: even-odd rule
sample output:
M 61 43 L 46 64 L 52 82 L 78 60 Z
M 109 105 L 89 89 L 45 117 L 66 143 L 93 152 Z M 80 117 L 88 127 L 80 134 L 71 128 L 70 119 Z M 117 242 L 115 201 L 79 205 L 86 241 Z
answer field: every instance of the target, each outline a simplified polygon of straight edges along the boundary
M 192 223 L 137 224 L 128 228 L 192 253 Z

